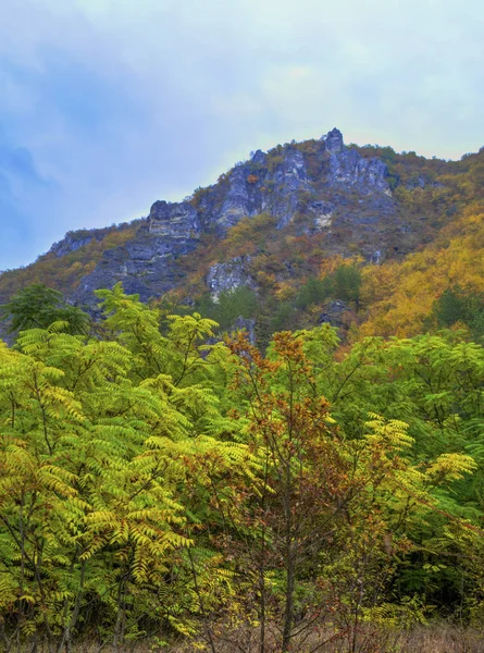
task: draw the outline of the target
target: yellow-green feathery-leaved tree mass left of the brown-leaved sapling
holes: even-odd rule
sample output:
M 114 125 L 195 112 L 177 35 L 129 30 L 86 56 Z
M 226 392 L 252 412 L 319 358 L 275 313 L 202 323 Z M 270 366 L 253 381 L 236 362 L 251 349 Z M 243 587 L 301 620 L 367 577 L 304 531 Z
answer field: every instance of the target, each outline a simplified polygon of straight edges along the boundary
M 59 323 L 0 347 L 7 650 L 27 636 L 49 653 L 70 651 L 83 628 L 115 651 L 162 628 L 186 634 L 207 588 L 225 586 L 216 564 L 196 582 L 187 554 L 209 513 L 204 469 L 223 476 L 247 459 L 243 444 L 211 434 L 224 420 L 197 382 L 212 365 L 198 352 L 208 323 L 173 318 L 157 340 L 157 311 L 121 288 L 107 292 L 107 309 L 132 350 Z

